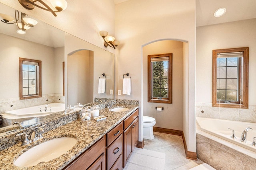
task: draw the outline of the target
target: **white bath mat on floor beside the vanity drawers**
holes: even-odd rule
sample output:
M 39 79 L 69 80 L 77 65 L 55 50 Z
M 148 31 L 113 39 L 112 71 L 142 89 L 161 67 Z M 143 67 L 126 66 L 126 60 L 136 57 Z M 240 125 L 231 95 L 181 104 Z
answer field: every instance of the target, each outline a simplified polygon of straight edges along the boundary
M 164 170 L 165 153 L 135 148 L 124 170 Z

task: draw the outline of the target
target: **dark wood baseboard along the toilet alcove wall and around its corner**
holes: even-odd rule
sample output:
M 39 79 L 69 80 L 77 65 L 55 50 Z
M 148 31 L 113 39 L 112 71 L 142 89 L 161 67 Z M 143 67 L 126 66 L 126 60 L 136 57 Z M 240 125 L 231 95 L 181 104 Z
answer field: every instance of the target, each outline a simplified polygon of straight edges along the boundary
M 173 129 L 166 129 L 166 128 L 162 128 L 162 127 L 153 127 L 153 131 L 154 132 L 160 132 L 160 133 L 167 133 L 167 134 L 171 134 L 171 135 L 182 136 L 186 158 L 187 159 L 192 159 L 192 160 L 197 160 L 196 152 L 188 151 L 187 144 L 186 144 L 186 139 L 184 137 L 183 131 L 178 131 L 178 130 L 173 130 Z

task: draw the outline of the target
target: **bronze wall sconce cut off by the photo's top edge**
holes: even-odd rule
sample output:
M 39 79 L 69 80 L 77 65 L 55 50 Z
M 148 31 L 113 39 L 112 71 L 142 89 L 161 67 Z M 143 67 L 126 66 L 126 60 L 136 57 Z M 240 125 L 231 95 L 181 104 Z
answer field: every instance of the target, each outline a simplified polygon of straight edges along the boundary
M 52 12 L 52 14 L 54 16 L 57 16 L 55 12 L 61 12 L 63 10 L 65 10 L 68 6 L 68 3 L 66 2 L 66 0 L 50 0 L 52 6 L 57 10 L 52 10 L 52 8 L 50 8 L 45 2 L 43 2 L 42 0 L 18 0 L 20 2 L 20 4 L 28 9 L 28 10 L 33 10 L 36 7 L 41 8 L 43 10 Z M 40 6 L 38 4 L 36 4 L 35 2 L 39 2 L 40 4 L 42 4 L 43 6 Z

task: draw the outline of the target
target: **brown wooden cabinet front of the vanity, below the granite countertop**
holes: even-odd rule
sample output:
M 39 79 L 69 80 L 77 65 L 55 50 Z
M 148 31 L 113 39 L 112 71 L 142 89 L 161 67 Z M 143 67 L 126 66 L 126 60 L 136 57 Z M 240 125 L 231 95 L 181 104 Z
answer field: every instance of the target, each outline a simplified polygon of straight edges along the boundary
M 123 135 L 124 132 L 124 135 Z M 65 170 L 122 170 L 138 143 L 138 109 L 121 121 Z M 106 160 L 106 162 L 105 162 Z

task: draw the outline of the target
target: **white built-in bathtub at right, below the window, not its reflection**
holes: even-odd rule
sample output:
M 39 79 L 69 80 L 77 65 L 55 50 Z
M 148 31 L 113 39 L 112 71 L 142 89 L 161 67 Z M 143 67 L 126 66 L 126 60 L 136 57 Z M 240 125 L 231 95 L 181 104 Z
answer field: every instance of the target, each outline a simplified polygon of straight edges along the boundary
M 239 145 L 240 147 L 244 147 L 253 152 L 256 152 L 256 147 L 252 146 L 252 139 L 256 137 L 256 123 L 248 123 L 242 121 L 229 121 L 229 120 L 221 120 L 221 119 L 210 119 L 210 118 L 202 118 L 196 117 L 196 123 L 200 127 L 200 129 L 206 133 Z M 247 127 L 252 128 L 253 130 L 249 130 L 247 133 L 247 142 L 241 142 L 241 135 L 244 129 Z M 232 130 L 235 131 L 236 139 L 232 139 Z

